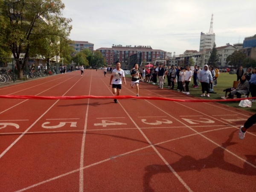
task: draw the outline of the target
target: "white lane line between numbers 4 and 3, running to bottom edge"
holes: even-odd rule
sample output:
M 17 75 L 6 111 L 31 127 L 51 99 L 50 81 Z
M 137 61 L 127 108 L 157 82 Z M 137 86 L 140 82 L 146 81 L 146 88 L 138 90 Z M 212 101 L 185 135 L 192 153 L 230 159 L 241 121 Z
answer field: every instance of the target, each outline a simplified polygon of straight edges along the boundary
M 103 81 L 103 80 L 102 80 Z M 103 81 L 104 82 L 104 81 Z M 108 87 L 108 85 L 104 82 L 104 84 L 106 85 L 106 87 Z M 126 87 L 125 87 L 126 88 Z M 127 88 L 126 88 L 127 89 Z M 111 92 L 111 90 L 108 88 L 108 90 Z M 131 91 L 131 90 L 130 90 Z M 111 92 L 112 93 L 112 92 Z M 113 94 L 113 93 L 112 93 Z M 147 101 L 147 100 L 145 100 Z M 148 101 L 147 101 L 148 102 Z M 189 191 L 192 192 L 192 189 L 190 189 L 190 187 L 185 183 L 185 181 L 183 181 L 183 179 L 177 174 L 177 172 L 175 172 L 175 170 L 172 168 L 172 166 L 170 166 L 170 164 L 165 160 L 165 158 L 160 154 L 160 152 L 157 150 L 157 148 L 155 148 L 155 146 L 151 143 L 151 141 L 148 139 L 148 137 L 144 134 L 144 132 L 141 130 L 141 128 L 136 124 L 136 122 L 131 118 L 131 116 L 129 115 L 129 113 L 125 110 L 125 108 L 121 105 L 120 102 L 118 102 L 119 105 L 122 107 L 122 109 L 125 111 L 125 113 L 127 114 L 127 116 L 131 119 L 131 121 L 133 122 L 133 124 L 135 125 L 135 127 L 137 127 L 137 129 L 140 131 L 140 133 L 143 135 L 143 137 L 145 138 L 145 140 L 148 142 L 148 144 L 151 146 L 151 148 L 153 148 L 153 150 L 157 153 L 157 155 L 160 157 L 160 159 L 166 164 L 166 166 L 171 170 L 171 172 L 177 177 L 177 179 L 180 181 L 180 183 L 183 184 L 183 186 Z M 150 102 L 149 102 L 150 103 Z

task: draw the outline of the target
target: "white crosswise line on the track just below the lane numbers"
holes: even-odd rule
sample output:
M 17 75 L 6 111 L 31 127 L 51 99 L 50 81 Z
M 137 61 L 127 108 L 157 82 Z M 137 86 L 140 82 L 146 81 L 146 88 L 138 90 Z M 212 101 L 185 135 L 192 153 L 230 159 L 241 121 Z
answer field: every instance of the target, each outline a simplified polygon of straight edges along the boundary
M 207 125 L 198 125 L 198 126 L 191 126 L 191 127 L 223 127 L 223 126 L 227 126 L 227 125 L 211 125 L 211 126 L 207 126 Z M 242 126 L 242 125 L 239 125 Z M 256 126 L 256 125 L 255 125 Z M 187 128 L 186 126 L 177 126 L 177 127 L 146 127 L 146 128 L 141 128 L 141 129 L 160 129 L 160 128 Z M 230 127 L 227 127 L 230 128 Z M 132 130 L 132 129 L 136 129 L 137 128 L 111 128 L 111 129 L 87 129 L 86 132 L 90 132 L 90 131 L 111 131 L 111 130 Z M 224 129 L 224 128 L 221 128 Z M 217 130 L 217 129 L 213 129 L 213 130 Z M 84 130 L 70 130 L 70 131 L 35 131 L 35 132 L 26 132 L 26 134 L 44 134 L 44 133 L 62 133 L 62 132 L 77 132 L 77 131 L 81 131 L 83 132 Z M 209 130 L 212 131 L 212 130 Z M 0 135 L 15 135 L 15 134 L 22 134 L 23 132 L 10 132 L 10 133 L 0 133 Z

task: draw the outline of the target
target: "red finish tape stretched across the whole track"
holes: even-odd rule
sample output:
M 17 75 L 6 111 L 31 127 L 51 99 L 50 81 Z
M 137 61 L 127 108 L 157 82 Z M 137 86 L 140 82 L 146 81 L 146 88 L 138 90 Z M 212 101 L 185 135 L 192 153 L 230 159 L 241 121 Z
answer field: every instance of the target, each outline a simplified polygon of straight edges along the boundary
M 256 97 L 241 98 L 241 99 L 168 99 L 162 97 L 137 97 L 137 96 L 29 96 L 29 95 L 0 95 L 3 99 L 144 99 L 144 100 L 163 100 L 163 101 L 174 101 L 174 102 L 229 102 L 229 101 L 241 101 L 245 99 L 256 99 Z

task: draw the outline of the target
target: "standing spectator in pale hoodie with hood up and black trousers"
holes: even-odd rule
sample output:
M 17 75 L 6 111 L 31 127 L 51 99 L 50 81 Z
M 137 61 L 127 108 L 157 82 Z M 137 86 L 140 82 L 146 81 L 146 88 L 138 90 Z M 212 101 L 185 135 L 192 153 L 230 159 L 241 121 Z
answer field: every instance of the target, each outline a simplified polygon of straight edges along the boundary
M 206 91 L 207 97 L 210 97 L 209 95 L 209 82 L 212 83 L 212 73 L 209 71 L 208 65 L 204 66 L 204 69 L 201 70 L 201 72 L 198 75 L 198 80 L 201 83 L 202 86 L 202 97 L 205 96 L 204 92 Z

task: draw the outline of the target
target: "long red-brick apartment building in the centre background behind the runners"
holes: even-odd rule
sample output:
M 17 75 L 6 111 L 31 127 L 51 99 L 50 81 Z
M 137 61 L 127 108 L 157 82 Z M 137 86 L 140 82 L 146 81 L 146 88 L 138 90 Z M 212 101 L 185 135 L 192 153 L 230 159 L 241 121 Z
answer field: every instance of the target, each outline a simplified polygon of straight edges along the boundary
M 161 49 L 152 49 L 151 46 L 134 46 L 126 45 L 114 45 L 111 48 L 101 47 L 96 49 L 100 51 L 105 57 L 107 65 L 114 64 L 117 60 L 121 61 L 121 64 L 130 64 L 130 56 L 136 54 L 138 58 L 136 61 L 140 63 L 141 61 L 154 62 L 156 60 L 164 60 L 166 57 L 166 51 Z M 135 58 L 135 57 L 131 57 Z

